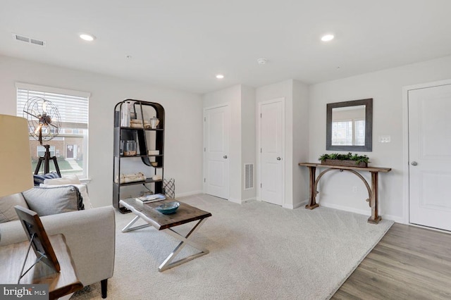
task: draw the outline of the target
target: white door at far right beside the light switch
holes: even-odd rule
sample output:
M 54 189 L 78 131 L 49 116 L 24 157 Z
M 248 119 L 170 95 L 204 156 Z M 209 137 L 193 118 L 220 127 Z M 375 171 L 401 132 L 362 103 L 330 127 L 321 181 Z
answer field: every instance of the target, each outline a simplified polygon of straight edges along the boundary
M 410 223 L 451 230 L 451 85 L 408 96 Z

